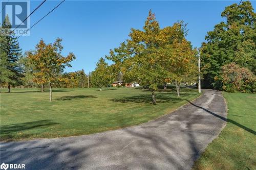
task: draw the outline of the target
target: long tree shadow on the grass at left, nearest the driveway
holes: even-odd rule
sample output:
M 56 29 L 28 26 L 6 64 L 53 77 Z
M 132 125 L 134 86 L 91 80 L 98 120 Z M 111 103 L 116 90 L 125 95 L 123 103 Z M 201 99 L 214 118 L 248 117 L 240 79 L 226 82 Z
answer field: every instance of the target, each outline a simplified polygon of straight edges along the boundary
M 57 125 L 58 123 L 52 122 L 51 120 L 37 120 L 34 122 L 25 122 L 20 124 L 11 124 L 0 126 L 1 135 L 7 135 L 10 133 L 17 133 L 24 130 L 34 129 L 38 127 L 49 127 Z

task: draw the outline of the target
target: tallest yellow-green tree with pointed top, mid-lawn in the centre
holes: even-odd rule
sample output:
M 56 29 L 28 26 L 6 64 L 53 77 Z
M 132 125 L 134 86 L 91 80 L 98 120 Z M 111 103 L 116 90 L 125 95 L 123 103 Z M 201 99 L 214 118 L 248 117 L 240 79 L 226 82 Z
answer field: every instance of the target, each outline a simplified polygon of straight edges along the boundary
M 120 67 L 125 81 L 137 82 L 151 89 L 153 104 L 156 104 L 157 85 L 163 82 L 166 74 L 160 55 L 161 36 L 159 23 L 150 10 L 143 30 L 131 29 L 130 39 L 107 56 Z

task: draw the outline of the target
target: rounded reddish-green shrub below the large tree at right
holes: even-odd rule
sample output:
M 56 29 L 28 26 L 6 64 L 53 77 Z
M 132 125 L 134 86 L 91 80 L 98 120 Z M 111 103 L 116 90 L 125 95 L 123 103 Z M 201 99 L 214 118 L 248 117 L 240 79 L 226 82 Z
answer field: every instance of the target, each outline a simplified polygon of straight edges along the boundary
M 245 67 L 235 63 L 222 66 L 222 88 L 228 92 L 256 92 L 256 77 Z

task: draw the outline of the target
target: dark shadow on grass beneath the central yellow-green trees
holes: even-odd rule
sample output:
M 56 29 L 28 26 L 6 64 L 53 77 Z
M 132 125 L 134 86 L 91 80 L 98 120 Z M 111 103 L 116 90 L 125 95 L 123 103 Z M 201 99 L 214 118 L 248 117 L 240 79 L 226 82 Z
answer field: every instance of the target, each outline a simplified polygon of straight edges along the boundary
M 180 96 L 189 96 L 193 95 L 193 93 L 189 92 L 182 92 Z M 156 94 L 157 103 L 178 103 L 183 101 L 184 99 L 178 98 L 176 96 L 176 92 L 168 92 L 168 93 L 157 93 Z M 120 102 L 120 103 L 151 103 L 152 102 L 152 95 L 151 94 L 141 94 L 136 96 L 130 97 L 123 97 L 123 98 L 115 98 L 111 99 L 112 102 Z

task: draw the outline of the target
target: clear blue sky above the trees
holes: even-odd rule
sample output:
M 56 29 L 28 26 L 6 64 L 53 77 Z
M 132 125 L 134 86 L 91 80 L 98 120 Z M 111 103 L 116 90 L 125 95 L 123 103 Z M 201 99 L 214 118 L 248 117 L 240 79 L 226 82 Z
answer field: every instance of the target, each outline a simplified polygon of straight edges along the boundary
M 31 25 L 59 2 L 43 4 L 31 16 Z M 31 1 L 31 11 L 40 3 Z M 150 9 L 161 28 L 177 20 L 187 22 L 187 39 L 199 47 L 207 31 L 224 19 L 221 12 L 233 3 L 239 1 L 66 1 L 32 28 L 30 36 L 20 37 L 19 43 L 25 52 L 33 50 L 41 38 L 50 43 L 61 37 L 63 55 L 73 52 L 76 56 L 66 71 L 83 68 L 88 73 L 100 57 L 128 38 L 131 28 L 142 29 Z

